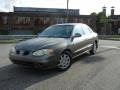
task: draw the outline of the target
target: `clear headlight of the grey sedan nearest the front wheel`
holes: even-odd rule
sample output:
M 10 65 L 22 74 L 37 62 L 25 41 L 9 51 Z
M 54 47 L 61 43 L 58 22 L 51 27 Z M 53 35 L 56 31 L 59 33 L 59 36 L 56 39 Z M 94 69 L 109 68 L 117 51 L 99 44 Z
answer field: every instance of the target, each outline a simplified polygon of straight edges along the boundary
M 50 55 L 51 53 L 53 53 L 52 49 L 42 49 L 42 50 L 33 52 L 33 56 Z

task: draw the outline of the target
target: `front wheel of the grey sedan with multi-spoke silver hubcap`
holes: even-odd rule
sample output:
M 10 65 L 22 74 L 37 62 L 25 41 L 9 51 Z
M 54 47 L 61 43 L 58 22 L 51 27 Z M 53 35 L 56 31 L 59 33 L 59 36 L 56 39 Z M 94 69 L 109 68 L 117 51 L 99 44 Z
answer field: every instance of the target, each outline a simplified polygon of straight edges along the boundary
M 71 66 L 71 57 L 68 53 L 62 53 L 59 57 L 58 69 L 60 71 L 66 71 Z

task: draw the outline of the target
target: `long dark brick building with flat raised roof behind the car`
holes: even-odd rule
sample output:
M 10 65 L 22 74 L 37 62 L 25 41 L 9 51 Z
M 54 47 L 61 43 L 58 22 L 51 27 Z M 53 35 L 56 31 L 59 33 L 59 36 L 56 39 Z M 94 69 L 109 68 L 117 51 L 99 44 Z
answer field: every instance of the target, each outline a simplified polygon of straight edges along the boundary
M 86 23 L 96 31 L 96 17 L 79 15 L 79 9 L 14 7 L 14 12 L 0 13 L 0 34 L 36 34 L 58 23 Z

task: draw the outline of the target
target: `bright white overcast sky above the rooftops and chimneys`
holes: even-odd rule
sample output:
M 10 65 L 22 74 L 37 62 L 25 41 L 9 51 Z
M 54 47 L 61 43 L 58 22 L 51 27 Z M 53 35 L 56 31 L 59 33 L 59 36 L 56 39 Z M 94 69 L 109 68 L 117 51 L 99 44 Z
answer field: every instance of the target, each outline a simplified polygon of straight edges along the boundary
M 0 11 L 12 11 L 13 5 L 18 7 L 39 8 L 66 8 L 67 0 L 0 0 Z M 107 15 L 110 15 L 110 7 L 115 7 L 115 14 L 120 14 L 120 0 L 69 0 L 70 9 L 80 9 L 80 14 L 90 14 L 102 11 L 107 7 Z

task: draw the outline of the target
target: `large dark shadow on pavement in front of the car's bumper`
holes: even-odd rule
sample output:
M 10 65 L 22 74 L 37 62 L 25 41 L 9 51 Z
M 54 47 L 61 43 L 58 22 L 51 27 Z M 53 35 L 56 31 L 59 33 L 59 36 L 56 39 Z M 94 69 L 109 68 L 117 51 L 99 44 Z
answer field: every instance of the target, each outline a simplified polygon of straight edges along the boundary
M 56 69 L 40 70 L 11 64 L 0 68 L 0 90 L 24 90 L 62 73 Z

